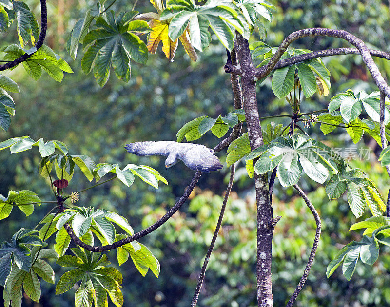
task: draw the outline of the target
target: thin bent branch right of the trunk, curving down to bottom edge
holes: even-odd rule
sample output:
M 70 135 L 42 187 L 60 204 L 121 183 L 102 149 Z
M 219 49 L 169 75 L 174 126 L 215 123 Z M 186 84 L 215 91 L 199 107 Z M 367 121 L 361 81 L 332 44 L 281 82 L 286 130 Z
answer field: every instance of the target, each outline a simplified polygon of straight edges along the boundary
M 292 296 L 291 296 L 289 302 L 287 303 L 286 307 L 291 307 L 292 304 L 294 304 L 296 298 L 298 297 L 299 292 L 303 288 L 303 285 L 305 285 L 306 279 L 308 278 L 308 275 L 309 275 L 309 271 L 310 271 L 310 269 L 312 268 L 312 265 L 313 265 L 315 252 L 317 251 L 318 242 L 320 240 L 320 235 L 321 235 L 321 220 L 320 220 L 320 216 L 318 215 L 317 211 L 315 211 L 315 208 L 312 205 L 311 201 L 306 196 L 306 194 L 301 190 L 301 188 L 299 188 L 299 186 L 297 184 L 294 184 L 293 187 L 298 192 L 298 194 L 303 198 L 303 200 L 305 201 L 306 205 L 309 207 L 310 211 L 312 211 L 312 214 L 313 214 L 314 219 L 315 219 L 315 223 L 317 224 L 317 229 L 315 231 L 313 247 L 312 247 L 312 251 L 310 252 L 308 263 L 307 263 L 306 268 L 305 268 L 305 270 L 303 272 L 302 278 L 299 281 L 298 286 L 296 287 L 296 289 L 295 289 L 294 293 L 292 294 Z

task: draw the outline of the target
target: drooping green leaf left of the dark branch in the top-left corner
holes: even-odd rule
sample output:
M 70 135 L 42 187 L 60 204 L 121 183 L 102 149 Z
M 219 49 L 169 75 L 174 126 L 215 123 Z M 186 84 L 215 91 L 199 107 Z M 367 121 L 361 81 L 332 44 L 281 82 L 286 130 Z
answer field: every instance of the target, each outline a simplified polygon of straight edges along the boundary
M 39 28 L 35 15 L 30 8 L 21 1 L 13 1 L 13 10 L 17 22 L 17 31 L 20 45 L 24 47 L 29 40 L 34 44 L 39 37 Z

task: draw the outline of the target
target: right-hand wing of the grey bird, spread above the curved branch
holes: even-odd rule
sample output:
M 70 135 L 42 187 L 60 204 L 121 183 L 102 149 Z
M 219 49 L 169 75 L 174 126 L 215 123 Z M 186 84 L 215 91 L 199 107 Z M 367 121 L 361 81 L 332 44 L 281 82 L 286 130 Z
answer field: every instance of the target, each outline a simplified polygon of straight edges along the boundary
M 190 169 L 206 173 L 222 169 L 223 165 L 209 148 L 203 145 L 191 145 L 192 148 L 177 155 Z

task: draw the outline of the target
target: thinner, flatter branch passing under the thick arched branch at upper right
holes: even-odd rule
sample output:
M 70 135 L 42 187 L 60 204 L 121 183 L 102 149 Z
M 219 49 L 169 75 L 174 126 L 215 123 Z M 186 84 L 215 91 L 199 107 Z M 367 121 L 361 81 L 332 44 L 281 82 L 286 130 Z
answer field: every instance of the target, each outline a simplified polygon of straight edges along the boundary
M 372 57 L 377 57 L 377 58 L 385 58 L 387 60 L 390 60 L 390 53 L 384 52 L 381 50 L 372 50 L 369 49 L 370 55 Z M 303 62 L 306 60 L 310 60 L 313 58 L 323 58 L 323 57 L 331 57 L 331 56 L 339 56 L 339 55 L 360 55 L 360 52 L 356 48 L 332 48 L 332 49 L 327 49 L 327 50 L 319 50 L 319 51 L 313 51 L 309 53 L 305 53 L 299 56 L 291 57 L 291 58 L 286 58 L 283 60 L 278 61 L 273 69 L 279 69 L 283 68 L 295 63 Z M 261 68 L 258 68 L 256 70 L 256 75 L 260 71 Z

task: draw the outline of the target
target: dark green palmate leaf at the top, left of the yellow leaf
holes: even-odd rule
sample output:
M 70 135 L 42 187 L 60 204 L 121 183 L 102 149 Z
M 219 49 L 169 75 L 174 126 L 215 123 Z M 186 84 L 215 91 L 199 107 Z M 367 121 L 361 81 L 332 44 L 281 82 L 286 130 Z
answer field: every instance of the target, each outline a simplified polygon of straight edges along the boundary
M 111 64 L 117 77 L 127 82 L 130 79 L 130 58 L 143 64 L 148 59 L 145 43 L 135 34 L 136 25 L 142 31 L 148 26 L 143 20 L 130 25 L 135 14 L 136 12 L 119 13 L 115 17 L 114 11 L 106 12 L 106 18 L 99 16 L 96 19 L 98 29 L 88 32 L 83 40 L 87 50 L 81 59 L 81 68 L 85 74 L 93 68 L 101 87 L 110 76 Z

